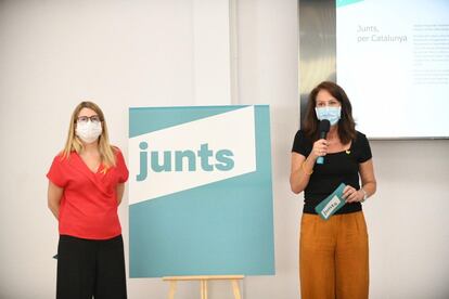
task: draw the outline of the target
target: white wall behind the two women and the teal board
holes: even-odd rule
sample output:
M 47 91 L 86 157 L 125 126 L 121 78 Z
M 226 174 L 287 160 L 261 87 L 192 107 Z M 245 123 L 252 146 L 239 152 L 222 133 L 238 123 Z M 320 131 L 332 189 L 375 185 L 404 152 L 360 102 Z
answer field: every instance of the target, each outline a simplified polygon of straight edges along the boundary
M 197 18 L 204 12 L 201 3 L 0 2 L 0 298 L 54 297 L 51 256 L 57 229 L 47 208 L 44 174 L 79 101 L 90 99 L 103 107 L 111 138 L 125 152 L 129 106 L 204 104 L 195 94 L 207 91 L 195 91 L 201 88 L 195 72 L 207 69 L 203 63 L 211 58 L 196 54 L 195 60 L 195 53 L 210 47 L 209 39 L 198 43 L 194 38 L 195 24 L 205 21 Z M 223 2 L 210 3 L 208 12 L 222 20 Z M 299 298 L 303 199 L 288 186 L 299 115 L 296 10 L 296 0 L 240 0 L 236 6 L 239 104 L 270 104 L 273 155 L 277 275 L 246 277 L 246 299 Z M 216 42 L 223 42 L 219 37 L 226 29 L 220 30 Z M 229 79 L 226 52 L 209 54 L 219 55 L 219 70 L 210 77 Z M 226 103 L 227 96 L 210 98 L 211 104 Z M 449 141 L 375 141 L 372 150 L 379 191 L 364 205 L 371 298 L 447 298 Z M 124 200 L 119 212 L 127 243 Z M 128 281 L 132 299 L 166 298 L 167 291 L 161 280 Z M 179 298 L 198 297 L 198 286 L 180 284 Z M 213 284 L 210 298 L 232 298 L 230 287 Z

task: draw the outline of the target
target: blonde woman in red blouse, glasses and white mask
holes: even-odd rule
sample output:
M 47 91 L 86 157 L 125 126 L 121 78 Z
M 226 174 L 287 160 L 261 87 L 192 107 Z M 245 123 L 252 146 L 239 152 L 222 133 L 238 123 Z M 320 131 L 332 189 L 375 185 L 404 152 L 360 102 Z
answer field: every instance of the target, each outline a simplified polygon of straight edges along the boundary
M 110 144 L 98 105 L 82 102 L 75 108 L 65 147 L 47 177 L 48 205 L 60 232 L 56 298 L 127 298 L 117 207 L 128 169 Z

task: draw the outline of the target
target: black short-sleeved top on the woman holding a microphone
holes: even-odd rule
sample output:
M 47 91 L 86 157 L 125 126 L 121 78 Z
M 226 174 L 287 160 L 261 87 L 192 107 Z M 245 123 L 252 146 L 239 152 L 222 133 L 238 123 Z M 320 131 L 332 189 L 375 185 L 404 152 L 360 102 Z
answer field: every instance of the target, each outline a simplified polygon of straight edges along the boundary
M 303 130 L 295 135 L 292 152 L 298 153 L 306 158 L 313 146 L 312 140 L 308 139 Z M 359 184 L 359 165 L 371 159 L 371 148 L 364 134 L 357 131 L 350 148 L 324 156 L 324 164 L 316 164 L 313 173 L 304 191 L 304 212 L 317 213 L 315 207 L 341 184 L 351 185 L 356 190 Z M 361 210 L 360 203 L 346 204 L 336 213 L 349 213 Z

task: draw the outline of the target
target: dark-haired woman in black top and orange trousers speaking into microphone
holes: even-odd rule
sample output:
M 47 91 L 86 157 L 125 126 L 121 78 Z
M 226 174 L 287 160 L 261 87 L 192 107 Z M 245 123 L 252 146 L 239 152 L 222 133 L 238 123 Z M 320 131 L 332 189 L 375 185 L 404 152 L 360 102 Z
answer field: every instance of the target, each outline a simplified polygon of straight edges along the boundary
M 374 194 L 376 181 L 370 144 L 356 131 L 351 105 L 334 82 L 316 87 L 303 129 L 295 135 L 290 184 L 305 205 L 300 225 L 299 276 L 302 298 L 368 298 L 368 233 L 361 203 Z M 319 122 L 331 128 L 319 139 Z M 324 164 L 317 164 L 324 157 Z M 359 178 L 361 184 L 359 183 Z M 315 208 L 341 183 L 346 204 L 329 220 Z

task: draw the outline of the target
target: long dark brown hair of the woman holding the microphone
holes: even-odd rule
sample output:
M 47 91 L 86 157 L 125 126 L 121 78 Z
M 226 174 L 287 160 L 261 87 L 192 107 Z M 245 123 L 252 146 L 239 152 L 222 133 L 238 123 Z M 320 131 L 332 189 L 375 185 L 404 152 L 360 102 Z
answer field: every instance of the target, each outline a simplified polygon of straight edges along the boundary
M 317 95 L 321 90 L 326 90 L 341 103 L 342 116 L 338 121 L 338 136 L 343 144 L 349 143 L 357 136 L 356 122 L 352 118 L 352 106 L 343 88 L 331 81 L 323 81 L 319 83 L 310 92 L 309 100 L 307 101 L 305 118 L 303 120 L 304 132 L 311 140 L 318 140 L 318 126 L 320 121 L 317 118 L 315 107 L 317 106 Z

